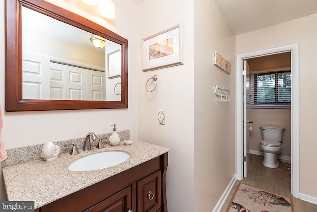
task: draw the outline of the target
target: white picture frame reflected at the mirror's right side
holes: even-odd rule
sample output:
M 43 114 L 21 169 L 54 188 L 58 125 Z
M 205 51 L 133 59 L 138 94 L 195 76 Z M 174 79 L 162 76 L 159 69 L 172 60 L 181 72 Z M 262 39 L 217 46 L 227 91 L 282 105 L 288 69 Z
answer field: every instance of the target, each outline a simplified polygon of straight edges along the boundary
M 108 53 L 108 78 L 121 77 L 121 51 L 117 49 Z

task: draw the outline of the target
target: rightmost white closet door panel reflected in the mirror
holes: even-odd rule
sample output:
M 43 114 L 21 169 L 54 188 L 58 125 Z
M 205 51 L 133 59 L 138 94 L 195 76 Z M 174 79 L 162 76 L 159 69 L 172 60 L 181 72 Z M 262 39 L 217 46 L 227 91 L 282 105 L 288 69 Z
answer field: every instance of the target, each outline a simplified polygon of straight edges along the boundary
M 87 98 L 88 100 L 105 101 L 105 72 L 87 70 Z

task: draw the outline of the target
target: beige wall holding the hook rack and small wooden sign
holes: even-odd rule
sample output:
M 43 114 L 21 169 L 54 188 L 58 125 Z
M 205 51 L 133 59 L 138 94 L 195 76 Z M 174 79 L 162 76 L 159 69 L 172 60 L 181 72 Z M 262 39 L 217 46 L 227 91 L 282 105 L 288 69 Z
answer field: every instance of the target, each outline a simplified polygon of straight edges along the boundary
M 218 51 L 231 74 L 213 64 Z M 235 174 L 235 36 L 213 0 L 194 1 L 195 212 L 211 212 Z M 230 88 L 220 102 L 215 85 Z

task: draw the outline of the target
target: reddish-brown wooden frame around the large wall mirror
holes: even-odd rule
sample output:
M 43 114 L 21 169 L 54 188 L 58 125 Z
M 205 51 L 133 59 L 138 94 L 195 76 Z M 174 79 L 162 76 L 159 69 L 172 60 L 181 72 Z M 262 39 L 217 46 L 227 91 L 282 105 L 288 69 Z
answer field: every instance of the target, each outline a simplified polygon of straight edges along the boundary
M 22 6 L 122 46 L 121 101 L 22 99 Z M 5 111 L 128 108 L 128 40 L 43 0 L 5 0 Z

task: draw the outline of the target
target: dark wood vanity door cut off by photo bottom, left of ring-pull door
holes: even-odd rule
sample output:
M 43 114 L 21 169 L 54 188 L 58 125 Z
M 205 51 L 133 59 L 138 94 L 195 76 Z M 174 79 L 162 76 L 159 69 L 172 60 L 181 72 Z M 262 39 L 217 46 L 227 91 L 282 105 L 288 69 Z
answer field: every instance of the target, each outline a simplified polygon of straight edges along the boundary
M 131 186 L 86 209 L 84 212 L 128 212 L 132 210 Z

